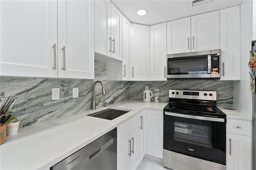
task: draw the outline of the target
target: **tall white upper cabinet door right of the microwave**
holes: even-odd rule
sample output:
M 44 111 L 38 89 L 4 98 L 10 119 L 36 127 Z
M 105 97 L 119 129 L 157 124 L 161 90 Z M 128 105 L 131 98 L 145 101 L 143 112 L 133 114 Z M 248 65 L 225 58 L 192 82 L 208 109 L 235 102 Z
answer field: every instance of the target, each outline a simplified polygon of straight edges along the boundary
M 240 6 L 220 10 L 220 80 L 240 80 Z

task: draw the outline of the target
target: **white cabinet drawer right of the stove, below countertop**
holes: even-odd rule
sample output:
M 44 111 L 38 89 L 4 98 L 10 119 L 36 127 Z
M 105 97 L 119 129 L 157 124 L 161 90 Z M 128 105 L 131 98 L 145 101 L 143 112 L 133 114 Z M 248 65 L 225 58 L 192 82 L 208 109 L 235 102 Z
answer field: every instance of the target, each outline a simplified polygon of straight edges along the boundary
M 227 133 L 251 136 L 251 121 L 227 119 L 226 131 Z

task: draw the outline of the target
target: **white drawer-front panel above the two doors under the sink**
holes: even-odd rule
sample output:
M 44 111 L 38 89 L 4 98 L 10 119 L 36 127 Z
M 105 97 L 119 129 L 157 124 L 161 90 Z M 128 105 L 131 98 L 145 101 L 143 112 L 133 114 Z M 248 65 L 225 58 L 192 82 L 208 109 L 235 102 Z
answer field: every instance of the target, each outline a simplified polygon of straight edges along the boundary
M 139 121 L 137 116 L 132 117 L 128 121 L 125 121 L 123 124 L 117 127 L 117 136 L 121 136 L 129 131 L 132 127 L 137 127 L 139 125 Z

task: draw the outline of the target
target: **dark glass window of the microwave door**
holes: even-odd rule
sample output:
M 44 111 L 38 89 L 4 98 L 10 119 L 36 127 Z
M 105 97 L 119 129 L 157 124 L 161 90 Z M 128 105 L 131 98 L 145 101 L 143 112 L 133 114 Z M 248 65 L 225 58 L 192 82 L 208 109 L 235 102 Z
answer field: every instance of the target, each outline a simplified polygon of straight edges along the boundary
M 168 75 L 207 74 L 207 55 L 168 58 Z

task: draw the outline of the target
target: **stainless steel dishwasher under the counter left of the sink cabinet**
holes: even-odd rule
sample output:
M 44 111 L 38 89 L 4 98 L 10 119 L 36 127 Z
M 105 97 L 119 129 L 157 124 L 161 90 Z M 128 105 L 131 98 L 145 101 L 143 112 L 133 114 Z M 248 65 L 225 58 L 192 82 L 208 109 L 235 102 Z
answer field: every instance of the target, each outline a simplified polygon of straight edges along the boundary
M 50 170 L 116 169 L 116 128 L 50 168 Z

